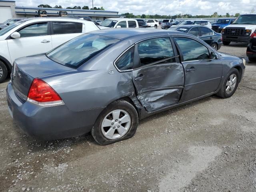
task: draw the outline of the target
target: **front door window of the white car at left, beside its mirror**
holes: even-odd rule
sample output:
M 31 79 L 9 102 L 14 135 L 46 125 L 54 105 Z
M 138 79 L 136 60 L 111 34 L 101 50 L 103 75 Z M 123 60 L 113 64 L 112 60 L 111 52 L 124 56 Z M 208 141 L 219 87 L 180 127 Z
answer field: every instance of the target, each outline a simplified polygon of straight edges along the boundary
M 19 31 L 20 37 L 34 37 L 47 35 L 48 24 L 37 23 L 27 26 Z

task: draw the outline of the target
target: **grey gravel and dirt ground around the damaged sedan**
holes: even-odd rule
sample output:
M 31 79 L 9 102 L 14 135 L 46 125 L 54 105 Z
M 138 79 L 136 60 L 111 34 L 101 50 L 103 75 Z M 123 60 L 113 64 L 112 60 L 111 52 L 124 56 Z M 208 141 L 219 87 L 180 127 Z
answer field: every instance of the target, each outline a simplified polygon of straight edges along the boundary
M 246 58 L 245 44 L 220 52 Z M 246 58 L 248 62 L 248 58 Z M 256 191 L 256 63 L 228 99 L 192 102 L 140 121 L 129 140 L 87 134 L 42 142 L 13 124 L 0 84 L 0 191 Z

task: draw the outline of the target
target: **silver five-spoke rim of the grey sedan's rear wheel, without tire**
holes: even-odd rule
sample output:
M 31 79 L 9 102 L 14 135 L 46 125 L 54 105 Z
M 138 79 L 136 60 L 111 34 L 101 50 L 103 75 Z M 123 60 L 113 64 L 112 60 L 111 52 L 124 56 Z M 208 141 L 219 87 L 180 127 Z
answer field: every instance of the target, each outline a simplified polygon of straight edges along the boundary
M 117 109 L 108 113 L 102 123 L 102 134 L 108 139 L 117 139 L 124 136 L 130 129 L 131 118 L 125 110 Z

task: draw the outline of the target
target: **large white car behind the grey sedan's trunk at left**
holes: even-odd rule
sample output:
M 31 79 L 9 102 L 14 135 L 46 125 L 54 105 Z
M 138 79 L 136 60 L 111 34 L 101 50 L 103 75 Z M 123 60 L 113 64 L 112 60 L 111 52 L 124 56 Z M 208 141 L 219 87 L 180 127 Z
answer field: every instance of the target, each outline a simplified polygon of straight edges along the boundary
M 94 30 L 100 29 L 93 22 L 74 18 L 30 18 L 0 30 L 0 82 L 16 58 L 46 53 Z

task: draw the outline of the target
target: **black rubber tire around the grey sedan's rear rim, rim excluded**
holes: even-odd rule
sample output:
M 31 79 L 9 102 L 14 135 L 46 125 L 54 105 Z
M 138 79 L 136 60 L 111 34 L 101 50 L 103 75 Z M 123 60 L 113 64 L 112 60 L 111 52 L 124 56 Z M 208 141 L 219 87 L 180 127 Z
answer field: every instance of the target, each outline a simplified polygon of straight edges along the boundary
M 101 130 L 101 124 L 102 121 L 104 120 L 105 116 L 112 112 L 113 110 L 125 110 L 129 115 L 130 115 L 130 128 L 129 130 L 126 132 L 126 134 L 124 134 L 124 136 L 117 138 L 117 139 L 109 139 L 106 138 L 104 136 L 104 134 L 102 133 Z M 134 108 L 134 106 L 132 104 L 130 104 L 129 102 L 125 101 L 125 100 L 116 100 L 114 102 L 112 102 L 111 104 L 109 104 L 98 116 L 92 130 L 91 130 L 91 134 L 92 137 L 94 138 L 94 140 L 100 144 L 100 145 L 108 145 L 120 140 L 124 140 L 124 139 L 128 139 L 131 138 L 138 127 L 138 113 L 136 111 L 136 109 Z

